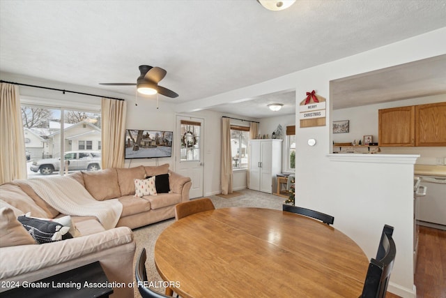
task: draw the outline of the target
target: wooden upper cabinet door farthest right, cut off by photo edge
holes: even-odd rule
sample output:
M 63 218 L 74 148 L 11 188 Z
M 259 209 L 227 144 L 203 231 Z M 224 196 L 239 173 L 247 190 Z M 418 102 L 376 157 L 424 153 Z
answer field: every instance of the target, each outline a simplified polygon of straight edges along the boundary
M 415 146 L 446 146 L 446 103 L 415 106 Z

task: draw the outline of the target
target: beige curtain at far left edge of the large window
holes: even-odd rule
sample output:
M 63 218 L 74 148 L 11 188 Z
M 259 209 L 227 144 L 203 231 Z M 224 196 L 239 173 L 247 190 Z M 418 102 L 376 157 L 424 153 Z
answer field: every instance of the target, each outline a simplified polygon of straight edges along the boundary
M 0 184 L 26 179 L 19 87 L 0 83 Z

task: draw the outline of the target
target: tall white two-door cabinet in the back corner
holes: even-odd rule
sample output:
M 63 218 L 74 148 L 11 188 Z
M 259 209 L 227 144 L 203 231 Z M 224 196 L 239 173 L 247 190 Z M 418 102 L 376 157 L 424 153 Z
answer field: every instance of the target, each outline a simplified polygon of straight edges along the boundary
M 249 140 L 249 189 L 273 193 L 282 172 L 282 140 Z

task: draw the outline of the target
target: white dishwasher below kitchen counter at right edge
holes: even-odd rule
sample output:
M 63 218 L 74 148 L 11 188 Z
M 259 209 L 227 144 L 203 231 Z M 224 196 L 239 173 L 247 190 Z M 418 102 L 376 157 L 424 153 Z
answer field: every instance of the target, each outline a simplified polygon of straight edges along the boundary
M 427 188 L 426 195 L 417 202 L 417 223 L 446 230 L 446 177 L 417 176 Z

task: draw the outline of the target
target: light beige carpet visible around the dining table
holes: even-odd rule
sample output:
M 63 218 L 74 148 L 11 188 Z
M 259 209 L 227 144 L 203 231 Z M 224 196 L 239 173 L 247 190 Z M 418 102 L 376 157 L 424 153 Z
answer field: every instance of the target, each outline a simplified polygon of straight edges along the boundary
M 227 208 L 227 207 L 259 207 L 268 209 L 282 210 L 282 204 L 286 198 L 279 197 L 277 195 L 269 195 L 268 193 L 261 193 L 260 191 L 251 191 L 244 189 L 239 191 L 240 195 L 235 198 L 220 198 L 217 195 L 210 195 L 207 198 L 213 201 L 215 208 Z M 155 248 L 155 242 L 157 237 L 162 231 L 169 225 L 174 223 L 175 218 L 160 223 L 153 223 L 143 228 L 134 229 L 134 239 L 137 242 L 137 252 L 135 254 L 135 260 L 133 261 L 133 268 L 136 262 L 137 255 L 141 253 L 142 248 L 146 248 L 147 261 L 146 270 L 149 281 L 162 281 L 162 278 L 158 274 L 155 262 L 153 262 L 153 249 Z M 157 292 L 164 293 L 164 288 L 153 288 Z M 134 289 L 134 297 L 141 297 L 138 289 Z M 176 295 L 175 295 L 176 297 Z

